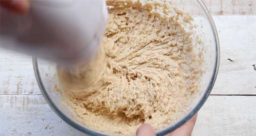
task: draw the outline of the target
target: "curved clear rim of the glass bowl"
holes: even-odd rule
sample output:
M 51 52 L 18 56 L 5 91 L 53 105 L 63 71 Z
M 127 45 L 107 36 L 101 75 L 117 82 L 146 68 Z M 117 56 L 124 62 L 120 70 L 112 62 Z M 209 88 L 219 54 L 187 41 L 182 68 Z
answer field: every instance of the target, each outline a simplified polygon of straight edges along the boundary
M 197 1 L 198 5 L 203 9 L 209 23 L 211 24 L 211 27 L 212 27 L 211 29 L 212 29 L 214 40 L 215 40 L 214 42 L 215 42 L 215 50 L 216 50 L 213 73 L 212 73 L 212 76 L 211 76 L 211 79 L 210 79 L 210 82 L 207 86 L 206 91 L 204 92 L 203 96 L 201 97 L 200 101 L 196 104 L 196 106 L 186 116 L 184 116 L 180 121 L 176 122 L 175 124 L 172 124 L 168 128 L 165 128 L 161 131 L 158 131 L 156 133 L 157 136 L 163 136 L 165 134 L 168 134 L 168 133 L 174 131 L 175 129 L 177 129 L 178 127 L 180 127 L 181 125 L 183 125 L 187 121 L 189 121 L 189 119 L 192 118 L 195 115 L 195 113 L 198 112 L 198 110 L 203 106 L 203 104 L 207 100 L 208 96 L 210 95 L 210 92 L 212 91 L 213 85 L 215 83 L 215 80 L 216 80 L 216 77 L 217 77 L 217 74 L 218 74 L 219 58 L 220 58 L 218 33 L 217 33 L 217 30 L 216 30 L 215 24 L 213 22 L 212 16 L 210 15 L 210 12 L 207 10 L 207 8 L 204 5 L 204 3 L 202 2 L 202 0 L 196 0 L 196 1 Z M 70 118 L 68 118 L 66 115 L 64 115 L 59 110 L 59 108 L 50 99 L 49 95 L 47 94 L 46 89 L 43 86 L 43 82 L 41 80 L 40 73 L 39 73 L 37 58 L 33 57 L 32 62 L 33 62 L 34 73 L 35 73 L 35 77 L 37 79 L 38 86 L 39 86 L 44 98 L 46 99 L 46 101 L 50 105 L 50 107 L 53 109 L 53 111 L 61 119 L 63 119 L 65 122 L 67 122 L 67 124 L 71 125 L 72 127 L 76 128 L 77 130 L 79 130 L 79 131 L 81 131 L 85 134 L 89 134 L 89 135 L 93 135 L 93 136 L 96 136 L 96 135 L 97 136 L 102 136 L 103 134 L 98 133 L 98 132 L 93 131 L 93 130 L 90 130 L 88 128 L 85 128 L 85 127 L 77 124 L 76 122 L 72 121 Z

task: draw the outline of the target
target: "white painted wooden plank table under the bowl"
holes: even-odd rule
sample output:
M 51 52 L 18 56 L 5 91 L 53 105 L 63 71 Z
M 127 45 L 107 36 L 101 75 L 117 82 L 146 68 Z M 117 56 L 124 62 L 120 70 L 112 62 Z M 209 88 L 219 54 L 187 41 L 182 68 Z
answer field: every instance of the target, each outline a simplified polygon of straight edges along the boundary
M 256 134 L 256 0 L 203 0 L 221 47 L 215 86 L 194 136 Z M 227 60 L 232 59 L 232 61 Z M 84 136 L 44 100 L 29 56 L 0 49 L 0 136 Z

